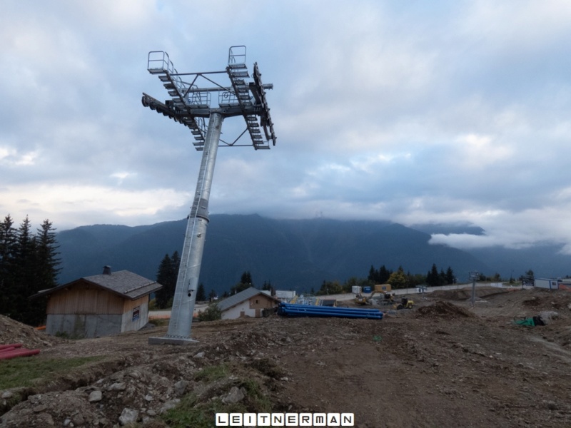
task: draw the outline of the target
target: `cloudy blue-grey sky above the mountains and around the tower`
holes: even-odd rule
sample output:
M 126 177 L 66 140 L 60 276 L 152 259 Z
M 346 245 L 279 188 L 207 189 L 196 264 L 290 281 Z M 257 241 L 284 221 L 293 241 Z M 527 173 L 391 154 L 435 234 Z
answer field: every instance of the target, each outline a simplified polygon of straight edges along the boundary
M 141 106 L 179 72 L 258 62 L 278 143 L 221 148 L 211 213 L 462 223 L 459 248 L 571 253 L 567 0 L 6 0 L 0 215 L 58 230 L 184 218 L 201 152 Z M 223 83 L 228 84 L 228 83 Z M 223 123 L 223 138 L 243 131 Z

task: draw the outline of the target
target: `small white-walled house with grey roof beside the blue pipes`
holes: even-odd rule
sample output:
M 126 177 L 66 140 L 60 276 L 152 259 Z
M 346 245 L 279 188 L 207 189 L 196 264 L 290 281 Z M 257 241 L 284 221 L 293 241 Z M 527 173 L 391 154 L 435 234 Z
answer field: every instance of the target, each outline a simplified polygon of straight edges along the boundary
M 223 320 L 235 320 L 239 317 L 260 318 L 263 316 L 263 310 L 273 310 L 279 303 L 280 300 L 275 297 L 250 287 L 222 300 L 218 303 L 218 308 L 222 311 Z

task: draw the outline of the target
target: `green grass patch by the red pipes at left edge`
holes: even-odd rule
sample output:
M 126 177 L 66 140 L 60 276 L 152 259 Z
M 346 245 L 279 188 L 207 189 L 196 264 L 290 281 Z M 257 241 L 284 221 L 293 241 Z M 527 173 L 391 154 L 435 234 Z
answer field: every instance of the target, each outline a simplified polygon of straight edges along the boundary
M 14 358 L 0 361 L 0 390 L 15 387 L 31 387 L 36 379 L 50 379 L 103 357 L 76 357 L 40 360 L 35 357 Z

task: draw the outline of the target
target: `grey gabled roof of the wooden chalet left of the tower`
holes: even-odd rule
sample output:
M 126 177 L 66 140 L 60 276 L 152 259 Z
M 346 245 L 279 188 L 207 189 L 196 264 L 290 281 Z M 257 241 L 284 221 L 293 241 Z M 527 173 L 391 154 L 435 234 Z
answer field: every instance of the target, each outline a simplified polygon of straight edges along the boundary
M 31 297 L 49 295 L 56 291 L 63 290 L 64 288 L 73 287 L 80 282 L 89 282 L 130 300 L 136 300 L 140 297 L 144 297 L 163 287 L 158 282 L 148 280 L 136 273 L 129 272 L 128 270 L 119 270 L 118 272 L 82 277 L 79 278 L 79 280 L 68 282 L 67 284 L 59 285 L 58 287 L 50 288 L 49 290 L 42 290 Z

